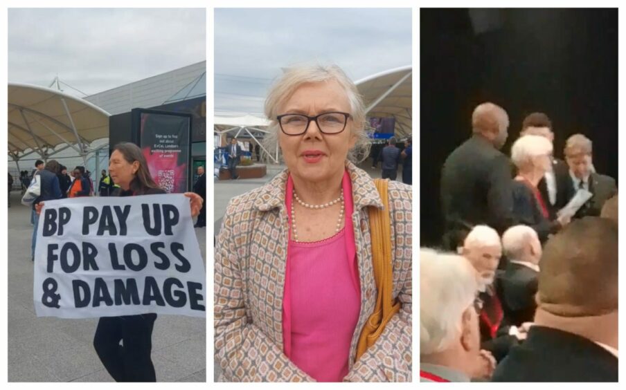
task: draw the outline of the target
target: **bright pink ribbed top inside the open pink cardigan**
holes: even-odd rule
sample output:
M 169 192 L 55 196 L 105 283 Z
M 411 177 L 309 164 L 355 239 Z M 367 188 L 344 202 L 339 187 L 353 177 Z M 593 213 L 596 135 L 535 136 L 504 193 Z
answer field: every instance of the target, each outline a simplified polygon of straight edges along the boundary
M 348 354 L 361 304 L 352 286 L 343 230 L 316 243 L 292 242 L 292 356 L 319 382 L 348 375 Z

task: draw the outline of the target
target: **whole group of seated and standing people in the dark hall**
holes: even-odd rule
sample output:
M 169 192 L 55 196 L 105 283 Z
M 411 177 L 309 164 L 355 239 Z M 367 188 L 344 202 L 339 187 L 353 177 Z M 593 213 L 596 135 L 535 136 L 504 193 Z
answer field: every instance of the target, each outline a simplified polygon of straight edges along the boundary
M 445 233 L 420 252 L 422 382 L 616 382 L 618 197 L 545 113 L 513 142 L 504 109 L 476 107 L 442 168 Z

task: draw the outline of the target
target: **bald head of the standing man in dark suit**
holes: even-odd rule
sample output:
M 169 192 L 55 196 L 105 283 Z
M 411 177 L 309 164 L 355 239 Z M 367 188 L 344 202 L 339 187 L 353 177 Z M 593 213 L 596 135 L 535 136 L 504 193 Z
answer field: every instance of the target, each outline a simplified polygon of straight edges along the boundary
M 506 142 L 508 126 L 508 115 L 497 104 L 479 104 L 472 113 L 472 131 L 487 138 L 497 149 L 501 149 Z

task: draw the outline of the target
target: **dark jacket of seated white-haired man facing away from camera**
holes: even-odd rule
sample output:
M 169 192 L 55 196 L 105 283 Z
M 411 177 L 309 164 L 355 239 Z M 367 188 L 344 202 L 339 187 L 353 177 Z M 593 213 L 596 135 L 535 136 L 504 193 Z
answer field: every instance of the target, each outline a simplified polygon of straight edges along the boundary
M 503 322 L 508 326 L 520 326 L 535 318 L 538 276 L 535 270 L 508 262 L 500 279 Z

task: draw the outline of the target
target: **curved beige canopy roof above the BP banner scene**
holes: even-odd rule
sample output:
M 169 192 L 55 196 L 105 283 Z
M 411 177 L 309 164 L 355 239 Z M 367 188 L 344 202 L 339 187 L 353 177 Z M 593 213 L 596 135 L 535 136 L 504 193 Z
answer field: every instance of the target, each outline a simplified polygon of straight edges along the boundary
M 108 136 L 109 113 L 98 106 L 56 89 L 8 83 L 8 151 L 14 159 L 28 149 L 51 156 L 49 149 L 61 144 L 84 156 L 90 142 Z

